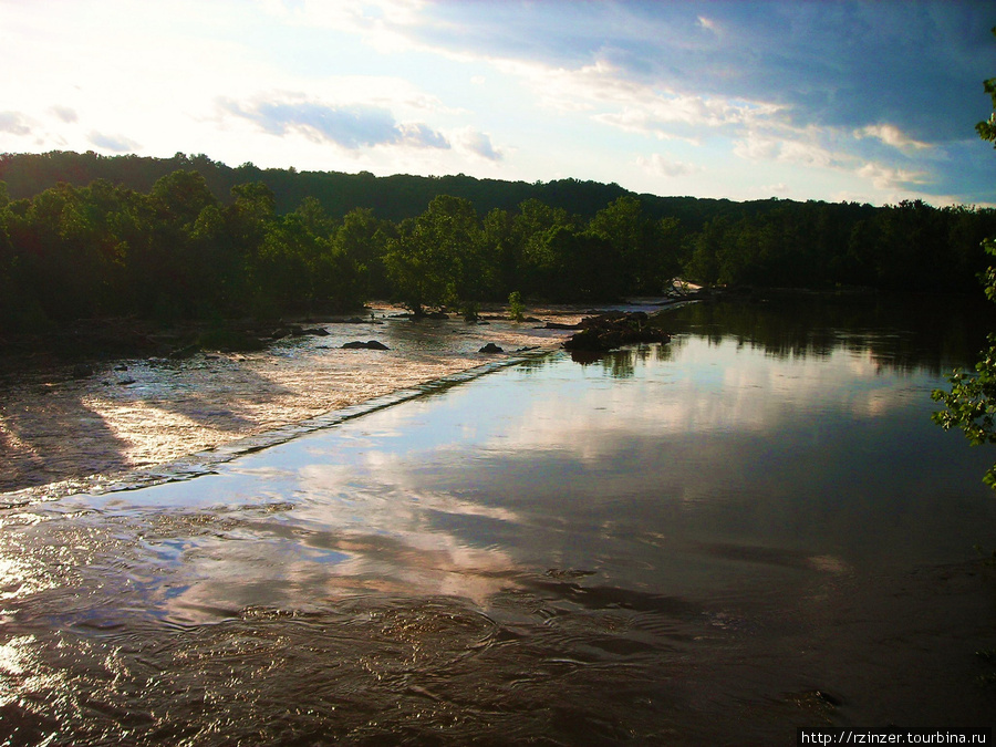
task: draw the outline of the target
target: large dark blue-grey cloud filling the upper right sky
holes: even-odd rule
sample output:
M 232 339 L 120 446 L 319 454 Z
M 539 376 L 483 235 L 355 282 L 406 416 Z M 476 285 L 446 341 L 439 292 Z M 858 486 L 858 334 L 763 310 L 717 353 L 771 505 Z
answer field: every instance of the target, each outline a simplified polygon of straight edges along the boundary
M 902 122 L 910 142 L 958 138 L 996 58 L 981 2 L 405 3 L 397 34 L 449 56 L 621 85 L 764 102 L 787 123 Z M 707 9 L 707 14 L 703 11 Z M 722 33 L 717 33 L 722 31 Z M 508 69 L 508 68 L 506 68 Z

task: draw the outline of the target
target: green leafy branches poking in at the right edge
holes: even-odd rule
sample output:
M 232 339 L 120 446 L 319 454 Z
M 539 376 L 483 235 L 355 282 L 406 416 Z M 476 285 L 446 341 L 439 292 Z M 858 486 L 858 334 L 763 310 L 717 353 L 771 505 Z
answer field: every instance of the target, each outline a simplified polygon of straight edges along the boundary
M 996 28 L 993 29 L 996 34 Z M 986 93 L 993 100 L 993 114 L 979 122 L 979 137 L 996 143 L 996 79 L 985 82 Z M 983 241 L 987 253 L 996 256 L 996 238 Z M 996 267 L 989 267 L 982 276 L 986 298 L 996 302 Z M 945 409 L 934 413 L 933 419 L 945 430 L 958 427 L 973 446 L 996 444 L 996 333 L 988 336 L 989 347 L 975 364 L 975 374 L 955 370 L 950 376 L 951 391 L 934 390 L 931 397 L 944 403 Z M 996 464 L 986 470 L 983 481 L 996 489 Z

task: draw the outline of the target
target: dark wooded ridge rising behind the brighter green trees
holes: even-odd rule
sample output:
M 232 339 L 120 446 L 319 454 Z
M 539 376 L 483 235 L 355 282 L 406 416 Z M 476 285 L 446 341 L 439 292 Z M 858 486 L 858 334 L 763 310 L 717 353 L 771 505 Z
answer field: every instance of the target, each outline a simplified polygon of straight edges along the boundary
M 148 193 L 159 178 L 177 170 L 195 170 L 200 174 L 215 198 L 225 204 L 234 200 L 232 187 L 261 181 L 273 191 L 278 214 L 290 212 L 305 197 L 314 197 L 333 219 L 343 218 L 354 208 L 370 208 L 377 218 L 395 222 L 422 215 L 437 195 L 467 199 L 481 215 L 494 208 L 513 210 L 531 198 L 588 219 L 619 197 L 633 194 L 618 184 L 578 179 L 528 184 L 477 179 L 464 175 L 376 177 L 369 172 L 344 174 L 298 172 L 293 168 L 262 169 L 253 164 L 234 168 L 203 154 L 187 156 L 177 153 L 172 158 L 101 156 L 92 151 L 0 154 L 0 181 L 7 183 L 12 200 L 34 197 L 60 181 L 85 187 L 96 179 L 106 179 L 135 191 Z M 771 203 L 778 201 L 734 203 L 727 199 L 656 195 L 640 195 L 640 198 L 652 217 L 677 218 L 688 230 L 699 230 L 706 220 L 715 217 L 739 218 L 764 210 Z

